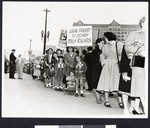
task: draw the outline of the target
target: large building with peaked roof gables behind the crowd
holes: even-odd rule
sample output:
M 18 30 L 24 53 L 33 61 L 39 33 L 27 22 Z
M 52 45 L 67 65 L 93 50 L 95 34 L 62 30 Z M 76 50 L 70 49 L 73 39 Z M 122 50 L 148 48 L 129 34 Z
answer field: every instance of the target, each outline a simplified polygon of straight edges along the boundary
M 85 24 L 81 20 L 73 23 L 73 26 L 92 26 L 92 42 L 95 43 L 97 38 L 102 38 L 104 32 L 113 32 L 118 41 L 124 42 L 131 31 L 139 29 L 139 25 L 119 24 L 113 20 L 110 24 Z

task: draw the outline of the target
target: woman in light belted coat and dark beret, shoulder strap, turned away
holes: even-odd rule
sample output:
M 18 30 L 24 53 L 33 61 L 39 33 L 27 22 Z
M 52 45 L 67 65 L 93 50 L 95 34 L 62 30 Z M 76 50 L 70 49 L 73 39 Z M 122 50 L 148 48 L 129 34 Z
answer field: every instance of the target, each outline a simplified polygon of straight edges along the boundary
M 112 32 L 104 33 L 104 40 L 106 44 L 103 46 L 102 54 L 100 55 L 102 72 L 99 78 L 97 91 L 104 92 L 106 107 L 111 107 L 109 102 L 109 93 L 118 92 L 119 86 L 119 66 L 118 66 L 118 57 L 116 51 L 116 45 L 118 49 L 119 58 L 121 56 L 123 43 L 118 42 L 116 44 L 116 35 Z M 119 106 L 123 108 L 123 103 L 121 97 L 118 98 Z

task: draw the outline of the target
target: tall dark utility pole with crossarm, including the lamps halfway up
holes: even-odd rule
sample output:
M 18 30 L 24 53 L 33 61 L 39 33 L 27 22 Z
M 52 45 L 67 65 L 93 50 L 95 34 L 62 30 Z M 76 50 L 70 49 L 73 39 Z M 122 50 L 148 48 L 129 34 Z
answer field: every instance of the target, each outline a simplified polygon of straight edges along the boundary
M 46 10 L 43 10 L 43 11 L 46 11 L 46 15 L 45 15 L 45 32 L 42 30 L 42 32 L 41 32 L 41 40 L 44 38 L 43 54 L 45 54 L 46 39 L 49 40 L 49 35 L 50 35 L 50 32 L 49 31 L 47 32 L 47 13 L 50 12 L 50 10 L 46 9 Z

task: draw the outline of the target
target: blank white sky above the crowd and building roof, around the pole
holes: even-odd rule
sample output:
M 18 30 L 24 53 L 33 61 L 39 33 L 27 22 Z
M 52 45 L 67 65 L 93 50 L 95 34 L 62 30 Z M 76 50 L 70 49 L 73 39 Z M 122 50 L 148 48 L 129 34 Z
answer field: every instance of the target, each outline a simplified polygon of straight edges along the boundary
M 29 50 L 43 51 L 41 31 L 48 13 L 47 45 L 57 45 L 61 29 L 70 28 L 81 20 L 85 24 L 138 24 L 141 17 L 148 19 L 147 2 L 3 2 L 2 41 L 4 49 L 23 54 Z

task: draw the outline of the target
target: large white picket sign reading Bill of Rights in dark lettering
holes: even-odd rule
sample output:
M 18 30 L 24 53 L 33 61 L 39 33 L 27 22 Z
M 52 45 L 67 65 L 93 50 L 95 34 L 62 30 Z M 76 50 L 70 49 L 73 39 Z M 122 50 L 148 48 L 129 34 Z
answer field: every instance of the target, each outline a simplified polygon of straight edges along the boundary
M 92 26 L 75 26 L 67 31 L 67 46 L 92 46 Z

